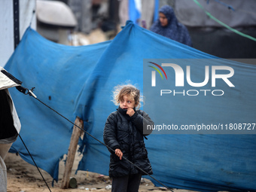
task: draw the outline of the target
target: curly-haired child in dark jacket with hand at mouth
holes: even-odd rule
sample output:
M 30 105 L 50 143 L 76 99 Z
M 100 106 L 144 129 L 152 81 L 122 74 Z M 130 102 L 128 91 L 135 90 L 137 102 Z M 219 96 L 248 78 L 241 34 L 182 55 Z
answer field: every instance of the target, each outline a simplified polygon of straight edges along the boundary
M 142 175 L 146 175 L 145 172 L 153 174 L 144 136 L 151 133 L 147 131 L 147 125 L 152 126 L 154 122 L 145 111 L 136 109 L 140 106 L 140 91 L 133 85 L 115 87 L 114 103 L 119 104 L 119 107 L 108 116 L 103 134 L 105 145 L 114 150 L 108 149 L 111 152 L 111 191 L 136 192 L 139 190 Z M 144 172 L 122 157 L 139 166 Z

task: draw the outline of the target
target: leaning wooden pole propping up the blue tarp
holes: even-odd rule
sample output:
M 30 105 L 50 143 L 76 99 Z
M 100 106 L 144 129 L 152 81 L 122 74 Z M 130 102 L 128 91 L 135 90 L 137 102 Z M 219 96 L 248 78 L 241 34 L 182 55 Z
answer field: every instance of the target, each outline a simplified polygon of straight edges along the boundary
M 81 120 L 79 117 L 76 117 L 75 124 L 81 128 L 84 127 L 84 121 Z M 78 140 L 79 140 L 79 137 L 81 136 L 81 133 L 83 133 L 83 131 L 80 130 L 77 126 L 73 126 L 73 133 L 70 139 L 68 157 L 66 160 L 64 175 L 62 178 L 62 184 L 61 184 L 62 189 L 67 189 L 69 187 L 69 178 L 70 178 L 70 175 L 72 172 L 72 166 L 75 160 L 75 153 L 78 147 Z

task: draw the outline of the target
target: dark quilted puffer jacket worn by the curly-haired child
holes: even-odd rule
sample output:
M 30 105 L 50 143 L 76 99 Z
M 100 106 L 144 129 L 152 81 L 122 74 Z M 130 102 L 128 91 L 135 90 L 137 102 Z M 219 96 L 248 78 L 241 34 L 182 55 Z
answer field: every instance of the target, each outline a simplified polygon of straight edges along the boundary
M 117 111 L 109 114 L 105 123 L 103 139 L 105 145 L 108 145 L 111 149 L 117 148 L 123 152 L 123 157 L 133 162 L 136 166 L 139 166 L 142 170 L 148 174 L 153 174 L 151 163 L 148 160 L 148 151 L 145 148 L 144 136 L 148 136 L 152 130 L 147 131 L 147 125 L 154 125 L 154 122 L 142 110 L 135 110 L 135 114 L 130 117 L 126 114 L 126 109 L 118 108 Z M 144 135 L 143 135 L 144 124 Z M 142 173 L 136 166 L 133 166 L 127 160 L 120 160 L 114 151 L 110 151 L 110 164 L 109 164 L 109 176 L 120 177 L 124 175 L 131 175 Z

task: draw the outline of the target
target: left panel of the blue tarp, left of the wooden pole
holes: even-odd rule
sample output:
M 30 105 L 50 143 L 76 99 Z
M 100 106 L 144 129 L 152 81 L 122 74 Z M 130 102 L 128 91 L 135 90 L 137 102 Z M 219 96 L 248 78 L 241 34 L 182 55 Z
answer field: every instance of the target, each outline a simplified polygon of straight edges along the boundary
M 46 40 L 29 28 L 5 69 L 23 81 L 23 87 L 35 87 L 38 99 L 75 122 L 78 93 L 108 44 L 110 41 L 65 46 Z M 31 96 L 15 88 L 9 90 L 20 117 L 20 136 L 35 163 L 58 181 L 59 160 L 68 152 L 72 124 Z M 34 165 L 20 139 L 14 142 L 11 152 L 18 152 L 23 160 Z

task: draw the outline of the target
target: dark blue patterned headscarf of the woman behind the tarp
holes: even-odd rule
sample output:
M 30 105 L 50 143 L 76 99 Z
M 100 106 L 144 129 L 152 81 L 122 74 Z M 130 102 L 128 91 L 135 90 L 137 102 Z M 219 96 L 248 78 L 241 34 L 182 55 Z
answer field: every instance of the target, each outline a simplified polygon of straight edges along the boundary
M 167 26 L 161 26 L 160 20 L 158 19 L 151 26 L 150 30 L 159 35 L 163 35 L 166 38 L 171 38 L 172 40 L 192 47 L 192 42 L 187 28 L 182 23 L 178 22 L 172 7 L 169 5 L 164 5 L 162 8 L 160 8 L 159 12 L 166 16 L 168 24 Z

